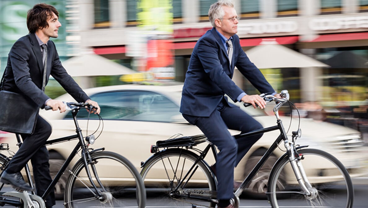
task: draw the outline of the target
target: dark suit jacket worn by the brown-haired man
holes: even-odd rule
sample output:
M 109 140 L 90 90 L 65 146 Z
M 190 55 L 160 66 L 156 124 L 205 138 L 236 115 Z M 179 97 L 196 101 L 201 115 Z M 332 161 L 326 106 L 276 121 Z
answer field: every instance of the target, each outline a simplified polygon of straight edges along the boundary
M 10 50 L 3 89 L 24 94 L 39 107 L 43 107 L 45 101 L 49 99 L 49 96 L 42 91 L 43 71 L 41 47 L 35 33 L 30 33 L 18 39 Z M 61 65 L 55 44 L 51 40 L 47 42 L 46 84 L 50 75 L 76 101 L 84 102 L 89 99 Z

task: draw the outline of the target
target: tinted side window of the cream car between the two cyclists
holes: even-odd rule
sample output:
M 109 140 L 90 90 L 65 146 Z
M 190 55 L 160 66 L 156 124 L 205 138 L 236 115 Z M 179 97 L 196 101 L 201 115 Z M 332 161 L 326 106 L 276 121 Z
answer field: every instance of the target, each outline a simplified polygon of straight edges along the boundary
M 166 96 L 149 91 L 125 90 L 103 92 L 91 96 L 98 102 L 102 119 L 171 122 L 174 115 L 180 114 L 179 107 Z M 95 114 L 90 119 L 98 119 Z M 72 118 L 71 112 L 66 118 Z M 81 110 L 78 119 L 88 118 L 88 112 Z

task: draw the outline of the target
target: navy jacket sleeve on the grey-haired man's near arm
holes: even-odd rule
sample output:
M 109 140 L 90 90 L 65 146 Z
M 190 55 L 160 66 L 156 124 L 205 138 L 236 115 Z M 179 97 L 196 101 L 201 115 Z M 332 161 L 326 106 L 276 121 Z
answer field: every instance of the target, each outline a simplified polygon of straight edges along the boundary
M 199 40 L 198 58 L 202 63 L 204 71 L 209 78 L 225 93 L 231 100 L 236 102 L 237 96 L 243 92 L 230 79 L 224 71 L 223 65 L 229 64 L 227 60 L 220 61 L 219 53 L 222 53 L 221 48 L 215 39 L 203 38 Z M 229 70 L 229 69 L 228 69 Z

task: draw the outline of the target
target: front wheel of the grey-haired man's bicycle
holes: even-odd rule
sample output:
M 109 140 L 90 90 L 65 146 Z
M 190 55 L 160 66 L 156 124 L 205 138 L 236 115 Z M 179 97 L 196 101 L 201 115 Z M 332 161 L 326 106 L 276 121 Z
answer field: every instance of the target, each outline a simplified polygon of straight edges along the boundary
M 298 153 L 303 155 L 299 162 L 312 185 L 308 188 L 311 194 L 301 189 L 289 158 L 284 157 L 270 173 L 268 196 L 272 207 L 351 208 L 353 183 L 343 164 L 322 150 L 301 149 Z

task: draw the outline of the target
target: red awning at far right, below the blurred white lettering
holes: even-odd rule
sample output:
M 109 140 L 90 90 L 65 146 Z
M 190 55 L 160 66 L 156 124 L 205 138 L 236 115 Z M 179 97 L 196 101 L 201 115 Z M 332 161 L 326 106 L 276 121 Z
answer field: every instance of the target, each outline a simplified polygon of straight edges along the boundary
M 364 39 L 368 39 L 368 32 L 325 34 L 319 35 L 314 40 L 304 42 L 327 42 L 327 41 L 364 40 Z

